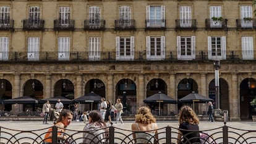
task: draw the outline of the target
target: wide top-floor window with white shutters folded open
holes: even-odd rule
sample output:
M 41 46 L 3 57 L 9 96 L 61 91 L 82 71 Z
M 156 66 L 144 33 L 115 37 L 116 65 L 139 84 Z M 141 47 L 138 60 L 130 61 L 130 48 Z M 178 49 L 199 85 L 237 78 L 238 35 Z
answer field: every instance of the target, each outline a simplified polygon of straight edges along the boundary
M 147 6 L 147 27 L 165 27 L 165 6 Z

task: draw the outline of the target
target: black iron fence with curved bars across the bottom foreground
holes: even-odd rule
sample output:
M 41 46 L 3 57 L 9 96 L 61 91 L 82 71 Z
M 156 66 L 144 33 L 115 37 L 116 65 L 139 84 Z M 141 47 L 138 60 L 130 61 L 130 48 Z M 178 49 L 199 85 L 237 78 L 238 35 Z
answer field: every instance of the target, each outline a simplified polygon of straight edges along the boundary
M 29 124 L 28 124 L 29 125 Z M 44 140 L 46 140 L 45 134 L 48 131 L 48 128 L 45 129 L 39 129 L 39 130 L 14 130 L 14 129 L 7 129 L 5 127 L 0 127 L 0 142 L 5 144 L 11 144 L 11 143 L 43 143 Z M 61 129 L 61 128 L 58 128 Z M 81 128 L 82 129 L 82 128 Z M 92 133 L 97 133 L 100 135 L 101 133 L 104 133 L 108 135 L 107 137 L 100 139 L 99 137 L 95 138 L 97 139 L 98 144 L 103 144 L 101 141 L 105 140 L 106 143 L 109 144 L 134 144 L 134 138 L 132 137 L 132 133 L 136 133 L 136 131 L 132 130 L 126 130 L 121 129 L 119 127 L 107 127 L 108 130 L 101 130 L 95 132 L 95 131 L 83 131 L 83 130 L 71 130 L 66 129 L 65 132 L 61 132 L 61 134 L 66 135 L 67 140 L 70 140 L 72 138 L 73 143 L 80 144 L 83 143 L 83 139 L 88 137 L 83 137 L 83 133 L 88 133 L 89 135 L 92 135 Z M 158 129 L 158 140 L 156 140 L 155 144 L 164 144 L 164 143 L 176 143 L 177 142 L 177 134 L 178 130 L 175 127 L 163 127 L 161 129 Z M 145 131 L 144 133 L 146 133 Z M 208 129 L 208 130 L 201 130 L 201 131 L 190 131 L 190 132 L 200 132 L 205 133 L 207 136 L 212 137 L 213 142 L 215 143 L 233 143 L 233 144 L 240 144 L 240 143 L 255 143 L 256 140 L 256 130 L 244 130 L 244 129 L 236 129 L 233 127 L 229 127 L 227 125 L 223 125 L 222 127 L 216 127 L 215 129 Z M 67 140 L 61 140 L 60 138 L 57 138 L 57 127 L 52 127 L 52 140 L 53 144 L 57 144 L 60 141 L 66 141 Z M 151 136 L 152 137 L 152 136 Z M 154 137 L 152 137 L 154 138 Z M 88 139 L 92 140 L 92 139 Z M 200 137 L 200 140 L 202 140 L 202 137 Z M 213 143 L 213 142 L 204 142 L 204 143 Z M 94 142 L 92 142 L 94 143 Z M 148 142 L 151 143 L 151 142 Z M 182 142 L 181 142 L 182 143 Z

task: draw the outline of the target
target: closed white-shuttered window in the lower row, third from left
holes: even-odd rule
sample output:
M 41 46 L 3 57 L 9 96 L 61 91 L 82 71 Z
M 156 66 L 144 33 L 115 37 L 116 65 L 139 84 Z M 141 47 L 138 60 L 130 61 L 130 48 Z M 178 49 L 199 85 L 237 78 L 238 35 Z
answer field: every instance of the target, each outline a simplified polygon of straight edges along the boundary
M 59 60 L 62 60 L 62 61 L 69 60 L 69 51 L 70 51 L 70 38 L 59 37 L 59 42 L 58 42 Z

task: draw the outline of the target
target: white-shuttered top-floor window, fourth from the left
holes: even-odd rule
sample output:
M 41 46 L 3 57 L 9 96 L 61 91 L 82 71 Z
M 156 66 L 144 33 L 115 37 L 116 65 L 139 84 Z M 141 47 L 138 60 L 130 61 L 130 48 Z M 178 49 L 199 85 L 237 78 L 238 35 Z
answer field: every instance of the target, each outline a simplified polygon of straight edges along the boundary
M 90 6 L 89 7 L 89 25 L 100 25 L 100 7 Z

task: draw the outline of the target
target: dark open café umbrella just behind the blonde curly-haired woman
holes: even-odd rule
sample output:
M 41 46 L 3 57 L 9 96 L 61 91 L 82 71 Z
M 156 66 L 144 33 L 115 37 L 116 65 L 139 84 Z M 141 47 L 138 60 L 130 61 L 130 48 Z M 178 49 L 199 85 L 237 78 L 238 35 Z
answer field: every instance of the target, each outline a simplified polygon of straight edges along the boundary
M 177 103 L 176 100 L 174 100 L 173 98 L 169 97 L 168 95 L 161 93 L 161 91 L 159 91 L 158 93 L 155 93 L 154 95 L 149 96 L 148 98 L 146 98 L 145 100 L 143 100 L 144 103 L 158 103 L 159 104 L 159 115 L 161 114 L 160 109 L 161 103 Z

